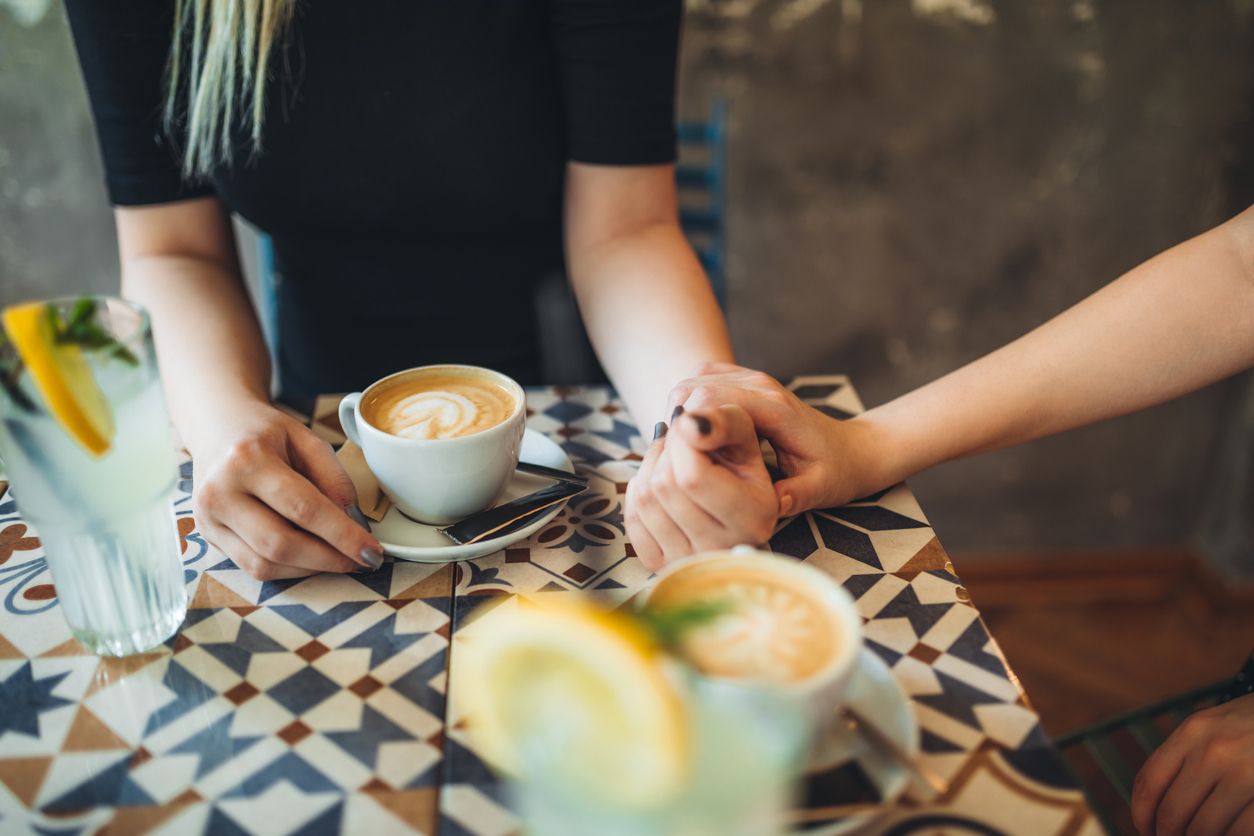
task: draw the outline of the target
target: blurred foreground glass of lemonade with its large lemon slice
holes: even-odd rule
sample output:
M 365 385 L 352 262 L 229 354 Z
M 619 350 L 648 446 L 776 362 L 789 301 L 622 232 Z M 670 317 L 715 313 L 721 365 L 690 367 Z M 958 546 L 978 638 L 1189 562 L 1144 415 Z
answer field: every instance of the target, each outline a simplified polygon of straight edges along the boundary
M 573 593 L 508 600 L 455 634 L 454 723 L 527 832 L 784 832 L 803 706 L 680 664 L 655 628 Z

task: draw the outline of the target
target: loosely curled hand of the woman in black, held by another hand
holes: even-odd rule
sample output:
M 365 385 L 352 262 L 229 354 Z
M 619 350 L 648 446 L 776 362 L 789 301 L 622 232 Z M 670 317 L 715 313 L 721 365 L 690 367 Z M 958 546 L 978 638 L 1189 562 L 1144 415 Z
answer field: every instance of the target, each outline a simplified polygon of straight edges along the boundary
M 779 501 L 749 414 L 735 405 L 658 425 L 627 485 L 627 535 L 651 570 L 696 551 L 765 543 Z

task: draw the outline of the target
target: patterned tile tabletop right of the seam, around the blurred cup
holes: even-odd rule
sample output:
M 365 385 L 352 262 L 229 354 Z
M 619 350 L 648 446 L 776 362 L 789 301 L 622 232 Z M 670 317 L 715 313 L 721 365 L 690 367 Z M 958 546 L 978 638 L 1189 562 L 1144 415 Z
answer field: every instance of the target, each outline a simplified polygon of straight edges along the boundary
M 803 377 L 791 387 L 838 417 L 863 409 L 844 377 Z M 592 489 L 525 546 L 456 567 L 451 664 L 458 629 L 494 598 L 578 589 L 619 604 L 648 582 L 622 530 L 623 490 L 645 442 L 624 422 L 621 405 L 601 392 L 596 399 L 583 391 L 557 391 L 543 400 L 529 395 L 538 414 L 533 424 L 537 417 L 552 420 L 545 431 L 592 476 Z M 905 485 L 785 520 L 770 548 L 828 572 L 854 595 L 868 644 L 913 701 L 927 766 L 951 781 L 947 797 L 930 808 L 885 817 L 869 832 L 882 826 L 943 831 L 947 821 L 971 832 L 1100 832 Z M 455 691 L 449 693 L 446 722 L 443 827 L 513 831 L 518 822 L 495 778 L 459 729 Z M 864 800 L 858 793 L 865 782 L 848 777 L 814 776 L 808 801 L 829 806 Z M 805 832 L 840 825 L 818 821 Z

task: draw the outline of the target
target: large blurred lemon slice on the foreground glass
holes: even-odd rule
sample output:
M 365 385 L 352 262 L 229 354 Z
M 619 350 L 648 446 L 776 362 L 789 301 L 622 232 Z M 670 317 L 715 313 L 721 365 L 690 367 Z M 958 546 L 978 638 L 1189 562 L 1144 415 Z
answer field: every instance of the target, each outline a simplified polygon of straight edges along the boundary
M 688 770 L 685 704 L 626 617 L 508 602 L 459 634 L 455 689 L 472 746 L 524 778 L 626 810 L 673 797 Z

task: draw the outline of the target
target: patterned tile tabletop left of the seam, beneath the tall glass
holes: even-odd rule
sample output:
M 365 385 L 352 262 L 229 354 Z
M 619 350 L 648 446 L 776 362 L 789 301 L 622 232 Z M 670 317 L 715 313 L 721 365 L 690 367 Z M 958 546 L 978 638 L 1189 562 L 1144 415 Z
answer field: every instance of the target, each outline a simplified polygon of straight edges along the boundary
M 196 534 L 189 480 L 187 619 L 127 659 L 70 638 L 0 500 L 0 831 L 434 832 L 451 570 L 258 583 Z

